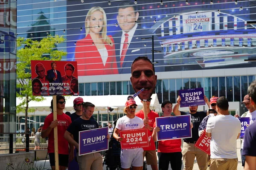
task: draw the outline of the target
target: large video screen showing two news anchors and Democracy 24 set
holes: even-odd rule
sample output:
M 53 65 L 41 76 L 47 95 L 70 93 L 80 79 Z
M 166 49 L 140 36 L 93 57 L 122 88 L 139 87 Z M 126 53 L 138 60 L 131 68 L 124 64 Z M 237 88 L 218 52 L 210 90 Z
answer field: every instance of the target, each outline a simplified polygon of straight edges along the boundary
M 67 1 L 67 58 L 78 75 L 131 73 L 139 56 L 155 71 L 255 67 L 250 1 Z

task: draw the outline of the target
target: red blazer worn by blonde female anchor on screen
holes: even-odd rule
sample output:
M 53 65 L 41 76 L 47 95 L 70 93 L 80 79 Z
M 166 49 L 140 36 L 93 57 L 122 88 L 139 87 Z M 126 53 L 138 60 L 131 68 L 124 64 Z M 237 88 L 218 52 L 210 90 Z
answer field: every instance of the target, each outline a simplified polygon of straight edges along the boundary
M 112 36 L 112 43 L 114 43 Z M 99 54 L 96 45 L 93 45 L 93 40 L 90 37 L 90 34 L 87 35 L 82 40 L 79 40 L 76 43 L 76 53 L 75 59 L 77 61 L 78 75 L 79 76 L 92 76 L 92 75 L 103 75 L 103 74 L 118 74 L 117 65 L 116 65 L 116 52 L 115 45 L 110 46 L 105 43 L 105 47 L 108 51 L 108 59 L 106 64 L 102 63 L 102 58 Z M 94 58 L 95 57 L 95 58 Z M 82 59 L 80 59 L 82 58 Z M 86 65 L 81 65 L 86 64 Z M 106 69 L 111 68 L 111 69 Z M 94 69 L 94 70 L 91 70 Z M 102 70 L 99 70 L 102 69 Z M 81 71 L 85 70 L 85 71 Z

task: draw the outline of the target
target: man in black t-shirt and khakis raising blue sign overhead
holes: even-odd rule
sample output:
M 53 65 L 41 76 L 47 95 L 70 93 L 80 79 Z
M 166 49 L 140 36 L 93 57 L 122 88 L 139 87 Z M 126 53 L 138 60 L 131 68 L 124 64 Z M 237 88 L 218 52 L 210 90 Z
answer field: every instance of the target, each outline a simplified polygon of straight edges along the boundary
M 198 127 L 201 124 L 202 120 L 207 116 L 206 111 L 197 111 L 198 106 L 189 106 L 188 112 L 179 111 L 181 98 L 178 96 L 177 104 L 173 108 L 173 113 L 175 116 L 180 115 L 191 115 L 191 122 L 193 123 L 192 128 L 192 138 L 183 139 L 183 147 L 182 147 L 182 155 L 184 162 L 184 170 L 192 170 L 194 166 L 194 161 L 196 157 L 196 161 L 198 163 L 199 170 L 206 170 L 207 164 L 207 154 L 202 150 L 195 147 L 195 142 L 198 140 Z M 210 108 L 210 102 L 206 96 L 204 96 L 204 101 L 207 103 Z

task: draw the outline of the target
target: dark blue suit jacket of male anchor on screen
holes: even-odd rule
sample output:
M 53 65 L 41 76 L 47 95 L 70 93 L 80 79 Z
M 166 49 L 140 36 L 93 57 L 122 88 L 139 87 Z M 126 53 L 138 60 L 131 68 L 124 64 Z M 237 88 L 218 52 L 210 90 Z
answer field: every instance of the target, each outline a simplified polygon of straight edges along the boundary
M 140 26 L 137 26 L 136 31 L 134 32 L 134 36 L 131 39 L 131 42 L 128 46 L 128 50 L 125 54 L 125 59 L 122 64 L 122 67 L 120 67 L 120 44 L 121 37 L 122 37 L 122 31 L 119 31 L 117 34 L 115 34 L 113 37 L 114 41 L 116 42 L 116 62 L 117 62 L 117 68 L 119 71 L 119 74 L 128 74 L 131 73 L 131 64 L 137 57 L 140 56 L 146 56 L 148 59 L 152 61 L 152 39 L 146 39 L 142 40 L 141 38 L 145 37 L 152 37 L 152 33 L 148 32 L 145 29 L 142 29 Z M 146 42 L 148 41 L 148 42 Z M 146 43 L 146 47 L 144 44 Z M 155 64 L 157 65 L 163 65 L 163 60 L 157 60 L 157 59 L 163 59 L 163 48 L 161 47 L 158 37 L 154 35 L 154 50 L 161 51 L 161 53 L 154 52 L 154 62 L 158 62 Z M 127 62 L 129 61 L 129 62 Z M 163 67 L 155 67 L 155 71 L 164 71 Z

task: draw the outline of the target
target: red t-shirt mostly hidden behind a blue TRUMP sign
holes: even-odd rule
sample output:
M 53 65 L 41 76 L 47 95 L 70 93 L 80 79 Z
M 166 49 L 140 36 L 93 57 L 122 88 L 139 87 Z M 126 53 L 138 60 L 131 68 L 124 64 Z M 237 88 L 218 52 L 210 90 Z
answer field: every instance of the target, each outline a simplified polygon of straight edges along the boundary
M 156 127 L 156 122 L 154 122 L 154 127 Z M 180 146 L 181 146 L 181 139 L 158 141 L 157 152 L 161 152 L 161 153 L 181 152 Z

